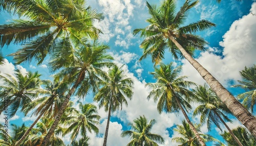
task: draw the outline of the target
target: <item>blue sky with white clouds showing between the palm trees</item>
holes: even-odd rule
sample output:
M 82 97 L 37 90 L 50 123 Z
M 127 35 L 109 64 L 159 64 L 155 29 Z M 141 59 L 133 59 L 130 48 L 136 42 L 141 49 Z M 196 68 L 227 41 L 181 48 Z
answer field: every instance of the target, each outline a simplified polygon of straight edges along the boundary
M 160 1 L 148 1 L 150 4 L 159 4 Z M 185 0 L 177 1 L 179 8 Z M 256 16 L 251 13 L 256 13 L 255 1 L 244 0 L 242 2 L 234 0 L 223 0 L 220 4 L 216 1 L 201 0 L 200 3 L 193 8 L 187 21 L 190 23 L 200 19 L 207 19 L 216 23 L 216 27 L 207 31 L 200 32 L 209 44 L 206 46 L 208 52 L 197 52 L 196 59 L 208 71 L 211 72 L 230 92 L 237 95 L 243 90 L 230 88 L 232 84 L 237 84 L 237 80 L 241 80 L 239 71 L 245 66 L 252 66 L 256 59 Z M 183 115 L 178 116 L 173 113 L 159 114 L 156 110 L 156 103 L 154 101 L 146 100 L 149 89 L 144 88 L 145 83 L 154 82 L 149 71 L 153 71 L 153 64 L 151 58 L 146 58 L 141 62 L 138 59 L 142 55 L 142 50 L 139 44 L 142 39 L 139 36 L 133 36 L 132 32 L 136 28 L 144 28 L 148 24 L 145 20 L 149 17 L 145 7 L 144 0 L 89 0 L 88 5 L 92 8 L 102 12 L 105 16 L 104 20 L 95 22 L 95 26 L 102 30 L 104 34 L 100 35 L 100 41 L 106 42 L 110 45 L 109 53 L 114 56 L 115 62 L 118 64 L 125 64 L 123 69 L 128 77 L 131 77 L 135 82 L 134 96 L 129 101 L 128 107 L 124 107 L 122 111 L 113 113 L 110 123 L 110 131 L 108 144 L 109 145 L 125 145 L 130 139 L 128 137 L 120 137 L 123 130 L 127 129 L 127 123 L 132 122 L 139 115 L 145 115 L 148 119 L 156 119 L 157 123 L 153 127 L 152 132 L 160 134 L 164 137 L 165 143 L 162 145 L 177 145 L 172 142 L 172 137 L 179 136 L 176 132 L 172 132 L 172 128 L 177 124 L 181 124 Z M 0 23 L 6 23 L 12 17 L 6 13 L 1 13 Z M 2 48 L 4 55 L 13 53 L 19 48 L 17 45 L 9 45 Z M 26 72 L 27 70 L 39 71 L 42 74 L 42 79 L 51 79 L 47 63 L 45 60 L 41 65 L 37 66 L 35 62 L 22 63 L 20 65 L 13 65 L 12 57 L 6 57 L 6 64 L 0 66 L 1 72 L 13 74 L 14 68 L 21 68 Z M 198 72 L 186 60 L 173 60 L 172 56 L 166 51 L 164 63 L 175 61 L 177 65 L 183 65 L 181 76 L 188 76 L 189 81 L 203 84 L 204 80 L 200 77 Z M 3 74 L 3 73 L 2 73 Z M 76 101 L 76 98 L 73 98 Z M 92 96 L 88 95 L 83 101 L 84 103 L 92 102 Z M 94 103 L 97 105 L 97 103 Z M 196 104 L 192 104 L 196 107 Z M 75 105 L 76 106 L 76 105 Z M 191 115 L 189 112 L 189 115 Z M 99 126 L 102 135 L 105 130 L 107 114 L 103 109 L 99 109 L 101 116 L 101 125 Z M 22 124 L 27 126 L 32 124 L 36 117 L 24 117 L 23 114 L 18 113 L 10 123 Z M 231 128 L 235 128 L 240 122 L 234 118 L 233 124 L 228 123 Z M 2 118 L 0 118 L 2 122 Z M 193 119 L 194 123 L 199 123 L 199 116 Z M 223 127 L 223 129 L 225 129 Z M 207 133 L 205 125 L 202 126 L 201 131 Z M 219 130 L 213 128 L 210 132 L 212 136 L 219 138 Z M 103 138 L 95 133 L 89 134 L 90 145 L 101 145 Z M 63 137 L 66 141 L 69 136 Z

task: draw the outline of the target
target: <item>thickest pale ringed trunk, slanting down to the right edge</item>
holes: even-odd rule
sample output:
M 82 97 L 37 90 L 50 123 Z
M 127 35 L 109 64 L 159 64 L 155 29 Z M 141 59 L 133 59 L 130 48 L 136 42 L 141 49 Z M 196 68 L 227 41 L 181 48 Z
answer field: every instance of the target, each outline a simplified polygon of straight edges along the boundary
M 179 48 L 182 55 L 187 61 L 193 65 L 202 76 L 202 78 L 209 84 L 212 90 L 217 94 L 219 99 L 227 106 L 227 108 L 236 116 L 241 123 L 250 131 L 256 138 L 256 118 L 248 112 L 248 110 L 238 102 L 234 96 L 224 88 L 221 83 L 214 78 L 200 63 L 198 63 L 191 55 L 189 55 L 184 48 L 175 40 L 173 36 L 168 36 L 175 45 Z

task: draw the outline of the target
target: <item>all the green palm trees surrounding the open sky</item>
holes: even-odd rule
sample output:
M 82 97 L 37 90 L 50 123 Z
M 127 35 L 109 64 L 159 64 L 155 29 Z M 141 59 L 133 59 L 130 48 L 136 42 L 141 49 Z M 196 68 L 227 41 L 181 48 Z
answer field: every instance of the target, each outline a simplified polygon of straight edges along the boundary
M 227 138 L 228 143 L 235 141 L 234 145 L 245 145 L 247 140 L 247 143 L 253 145 L 253 137 L 256 137 L 256 118 L 247 109 L 253 112 L 256 101 L 255 65 L 245 67 L 240 72 L 243 81 L 239 83 L 242 85 L 234 85 L 247 91 L 238 95 L 238 100 L 243 100 L 242 105 L 193 58 L 194 51 L 205 50 L 204 45 L 207 44 L 195 33 L 215 26 L 208 20 L 183 26 L 189 9 L 198 2 L 186 0 L 177 13 L 174 0 L 165 0 L 159 7 L 146 2 L 151 16 L 146 21 L 150 25 L 135 29 L 134 35 L 140 33 L 140 37 L 144 38 L 140 45 L 143 48 L 140 60 L 152 56 L 155 63 L 155 71 L 150 74 L 156 79 L 156 83 L 146 84 L 146 87 L 152 89 L 148 99 L 153 98 L 158 102 L 157 110 L 160 113 L 183 113 L 186 122 L 183 121 L 182 125 L 175 129 L 183 137 L 173 139 L 178 143 L 205 145 L 207 141 L 217 140 L 210 135 L 201 134 L 199 125 L 190 121 L 187 111 L 191 109 L 191 102 L 197 102 L 199 106 L 194 115 L 201 114 L 200 121 L 207 124 L 208 130 L 212 124 L 221 130 L 222 123 L 232 136 L 229 137 L 227 132 L 224 132 L 223 137 Z M 89 92 L 93 92 L 94 101 L 98 103 L 99 108 L 103 107 L 108 112 L 103 141 L 103 145 L 106 145 L 111 113 L 121 110 L 122 105 L 127 106 L 127 100 L 132 99 L 133 81 L 125 76 L 122 66 L 112 62 L 113 57 L 107 53 L 109 46 L 97 40 L 102 32 L 93 26 L 93 22 L 102 20 L 102 13 L 87 7 L 84 0 L 3 0 L 0 1 L 0 10 L 20 16 L 19 19 L 0 26 L 1 47 L 11 43 L 22 44 L 17 52 L 10 54 L 16 64 L 32 60 L 41 64 L 46 56 L 50 55 L 48 67 L 54 74 L 53 81 L 40 80 L 38 72 L 30 71 L 24 75 L 20 70 L 15 70 L 14 77 L 1 75 L 4 81 L 1 89 L 8 90 L 9 93 L 10 117 L 20 110 L 25 116 L 32 113 L 37 118 L 29 128 L 25 125 L 13 125 L 14 132 L 9 135 L 8 141 L 2 139 L 0 142 L 5 145 L 65 145 L 57 136 L 71 133 L 71 145 L 88 145 L 87 132 L 98 133 L 100 116 L 97 114 L 97 107 L 79 102 L 79 110 L 75 109 L 72 107 L 74 103 L 71 98 L 84 98 Z M 175 59 L 187 59 L 209 87 L 186 81 L 185 76 L 180 77 L 181 66 L 161 63 L 165 49 L 168 49 Z M 0 59 L 2 62 L 3 58 Z M 191 85 L 196 88 L 189 90 Z M 1 97 L 4 97 L 2 93 Z M 0 112 L 3 112 L 4 106 L 2 102 Z M 225 124 L 225 121 L 231 121 L 228 114 L 236 116 L 251 133 L 244 128 L 237 129 L 245 131 L 247 139 L 241 140 L 240 136 L 236 135 L 238 132 L 228 128 Z M 152 119 L 147 123 L 146 117 L 140 116 L 131 124 L 132 129 L 124 131 L 121 136 L 131 137 L 132 141 L 128 145 L 163 143 L 160 135 L 150 132 L 155 122 Z M 76 140 L 79 134 L 82 138 Z M 4 137 L 4 133 L 1 137 Z M 248 140 L 249 138 L 251 139 Z

